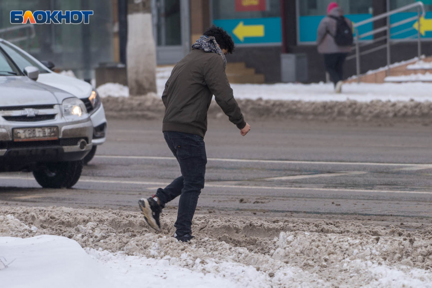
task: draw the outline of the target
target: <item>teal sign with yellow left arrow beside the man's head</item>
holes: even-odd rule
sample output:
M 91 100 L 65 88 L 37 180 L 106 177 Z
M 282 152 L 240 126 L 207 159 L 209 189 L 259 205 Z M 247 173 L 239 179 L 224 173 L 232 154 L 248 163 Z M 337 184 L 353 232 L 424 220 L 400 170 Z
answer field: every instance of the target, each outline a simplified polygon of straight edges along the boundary
M 280 17 L 213 20 L 213 24 L 224 28 L 236 45 L 282 43 Z

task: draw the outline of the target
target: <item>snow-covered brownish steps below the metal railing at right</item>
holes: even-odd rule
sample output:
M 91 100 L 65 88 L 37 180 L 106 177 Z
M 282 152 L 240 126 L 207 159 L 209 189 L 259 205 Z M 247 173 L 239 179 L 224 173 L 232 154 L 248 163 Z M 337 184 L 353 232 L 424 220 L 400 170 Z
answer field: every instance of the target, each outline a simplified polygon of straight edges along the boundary
M 389 75 L 388 75 L 389 74 Z M 351 77 L 346 83 L 357 82 L 357 77 Z M 432 82 L 432 57 L 422 59 L 414 58 L 408 61 L 395 63 L 387 67 L 369 71 L 360 75 L 360 82 L 364 83 L 405 83 L 405 82 Z

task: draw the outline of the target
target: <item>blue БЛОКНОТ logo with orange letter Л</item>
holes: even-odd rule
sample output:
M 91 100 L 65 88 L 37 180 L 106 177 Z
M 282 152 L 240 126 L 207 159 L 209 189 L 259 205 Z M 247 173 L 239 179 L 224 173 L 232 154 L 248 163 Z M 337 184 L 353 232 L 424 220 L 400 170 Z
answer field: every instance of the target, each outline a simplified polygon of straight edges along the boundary
M 88 24 L 93 11 L 11 11 L 11 24 Z

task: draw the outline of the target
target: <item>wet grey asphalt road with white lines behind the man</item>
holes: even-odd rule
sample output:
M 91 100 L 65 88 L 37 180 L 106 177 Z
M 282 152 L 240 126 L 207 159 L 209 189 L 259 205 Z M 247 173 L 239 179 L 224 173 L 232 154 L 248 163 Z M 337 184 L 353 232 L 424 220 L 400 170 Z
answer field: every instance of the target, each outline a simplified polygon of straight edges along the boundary
M 228 120 L 209 120 L 206 185 L 198 211 L 431 222 L 430 127 L 251 125 L 250 134 L 241 137 Z M 161 126 L 160 121 L 109 121 L 107 142 L 73 189 L 42 189 L 32 174 L 0 174 L 0 205 L 136 210 L 139 198 L 179 176 Z M 176 204 L 167 211 L 175 213 Z

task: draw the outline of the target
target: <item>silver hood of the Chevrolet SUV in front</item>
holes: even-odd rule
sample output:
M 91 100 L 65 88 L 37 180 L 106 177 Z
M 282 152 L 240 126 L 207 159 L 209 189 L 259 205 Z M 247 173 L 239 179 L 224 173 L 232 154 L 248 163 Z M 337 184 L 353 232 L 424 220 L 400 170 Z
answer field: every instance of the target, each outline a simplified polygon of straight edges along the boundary
M 0 106 L 55 105 L 74 95 L 30 80 L 26 76 L 0 76 Z

